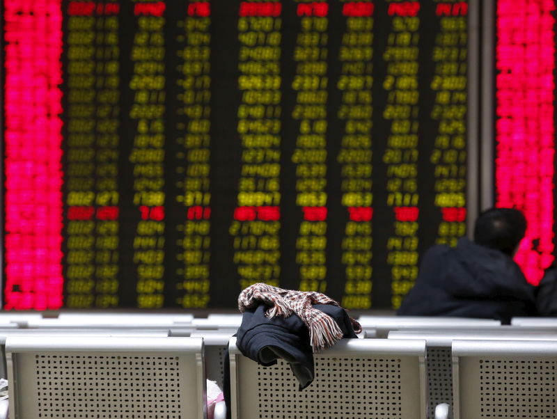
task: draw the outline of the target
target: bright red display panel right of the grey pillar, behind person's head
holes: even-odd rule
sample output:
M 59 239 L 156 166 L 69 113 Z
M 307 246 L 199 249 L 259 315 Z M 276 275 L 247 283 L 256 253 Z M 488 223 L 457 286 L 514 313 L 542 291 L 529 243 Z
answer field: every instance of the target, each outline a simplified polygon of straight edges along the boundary
M 515 260 L 534 285 L 555 251 L 555 9 L 496 2 L 496 205 L 526 216 Z

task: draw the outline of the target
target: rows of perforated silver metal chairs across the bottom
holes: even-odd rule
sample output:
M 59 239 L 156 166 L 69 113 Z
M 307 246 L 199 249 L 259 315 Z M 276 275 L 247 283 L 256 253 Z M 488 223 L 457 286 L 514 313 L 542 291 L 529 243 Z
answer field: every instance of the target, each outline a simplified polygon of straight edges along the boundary
M 222 383 L 227 347 L 232 418 L 448 418 L 453 406 L 463 419 L 557 417 L 549 319 L 360 317 L 368 337 L 381 337 L 317 354 L 315 381 L 299 391 L 287 363 L 262 367 L 240 354 L 234 318 L 187 337 L 151 321 L 103 329 L 91 317 L 79 330 L 0 325 L 10 418 L 203 418 L 205 377 Z

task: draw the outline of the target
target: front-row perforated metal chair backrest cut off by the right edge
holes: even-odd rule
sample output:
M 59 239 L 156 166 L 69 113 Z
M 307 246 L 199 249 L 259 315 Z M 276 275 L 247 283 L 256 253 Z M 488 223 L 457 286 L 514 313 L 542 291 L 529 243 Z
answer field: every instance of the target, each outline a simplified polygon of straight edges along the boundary
M 455 419 L 556 418 L 557 342 L 455 340 Z

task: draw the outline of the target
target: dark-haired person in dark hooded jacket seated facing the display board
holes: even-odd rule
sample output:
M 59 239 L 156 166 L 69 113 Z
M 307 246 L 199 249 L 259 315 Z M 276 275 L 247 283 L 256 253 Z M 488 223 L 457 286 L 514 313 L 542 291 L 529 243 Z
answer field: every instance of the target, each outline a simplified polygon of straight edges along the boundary
M 425 252 L 416 283 L 397 314 L 479 317 L 503 324 L 512 317 L 540 315 L 538 289 L 512 260 L 525 232 L 519 210 L 482 212 L 473 241 L 462 237 L 455 248 L 437 245 Z

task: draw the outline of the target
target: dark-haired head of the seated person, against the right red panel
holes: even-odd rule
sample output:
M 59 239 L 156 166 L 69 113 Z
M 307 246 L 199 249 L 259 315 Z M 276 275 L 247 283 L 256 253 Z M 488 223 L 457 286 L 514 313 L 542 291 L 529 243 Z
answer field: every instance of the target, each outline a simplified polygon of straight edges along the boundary
M 478 216 L 474 242 L 513 256 L 524 233 L 526 218 L 514 208 L 490 208 Z

